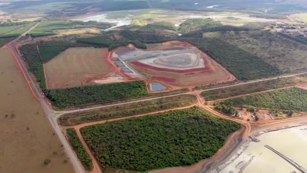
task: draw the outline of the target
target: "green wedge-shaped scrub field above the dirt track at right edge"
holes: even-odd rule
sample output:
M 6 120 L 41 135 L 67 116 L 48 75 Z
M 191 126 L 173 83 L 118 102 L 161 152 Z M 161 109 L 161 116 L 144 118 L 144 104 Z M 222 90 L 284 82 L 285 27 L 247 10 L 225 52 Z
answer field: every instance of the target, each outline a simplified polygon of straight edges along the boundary
M 221 102 L 225 105 L 245 105 L 257 108 L 307 112 L 307 90 L 290 88 L 268 93 L 233 98 Z

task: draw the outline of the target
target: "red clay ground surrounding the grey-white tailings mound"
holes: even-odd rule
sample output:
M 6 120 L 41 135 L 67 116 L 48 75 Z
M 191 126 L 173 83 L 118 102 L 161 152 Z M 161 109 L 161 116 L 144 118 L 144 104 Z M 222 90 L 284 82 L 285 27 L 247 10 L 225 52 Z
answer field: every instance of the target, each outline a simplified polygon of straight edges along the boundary
M 145 51 L 165 50 L 173 48 L 187 49 L 195 47 L 184 41 L 167 41 L 162 44 L 148 44 L 147 49 Z M 114 52 L 121 49 L 136 48 L 130 45 L 129 48 L 119 48 L 113 50 L 111 53 L 113 54 Z M 196 50 L 201 52 L 198 49 Z M 145 79 L 140 79 L 145 80 L 146 83 L 154 81 L 161 82 L 162 84 L 166 85 L 170 90 L 181 89 L 195 85 L 226 82 L 235 79 L 235 77 L 230 72 L 228 72 L 220 64 L 211 59 L 207 54 L 201 52 L 201 57 L 203 59 L 205 67 L 187 70 L 159 68 L 143 64 L 138 61 L 129 62 L 129 65 L 145 77 Z M 109 59 L 109 61 L 111 60 Z M 113 62 L 111 61 L 111 63 Z M 118 71 L 120 71 L 119 68 L 117 69 Z M 126 78 L 130 78 L 130 80 L 133 78 L 129 77 L 129 73 L 122 74 L 125 75 Z

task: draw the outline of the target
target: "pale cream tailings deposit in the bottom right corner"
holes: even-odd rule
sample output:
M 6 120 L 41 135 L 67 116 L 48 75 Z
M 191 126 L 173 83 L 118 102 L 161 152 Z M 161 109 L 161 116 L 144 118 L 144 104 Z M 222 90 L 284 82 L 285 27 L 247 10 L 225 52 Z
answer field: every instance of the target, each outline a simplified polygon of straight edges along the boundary
M 304 172 L 266 145 L 303 169 L 307 168 L 307 126 L 298 126 L 250 138 L 228 162 L 213 172 Z

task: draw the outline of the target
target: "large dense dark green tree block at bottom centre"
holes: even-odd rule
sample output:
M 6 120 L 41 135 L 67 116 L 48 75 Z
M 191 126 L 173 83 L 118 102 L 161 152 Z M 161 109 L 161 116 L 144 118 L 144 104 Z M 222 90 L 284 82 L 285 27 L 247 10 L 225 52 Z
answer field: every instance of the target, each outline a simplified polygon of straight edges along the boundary
M 240 127 L 193 107 L 86 126 L 80 131 L 105 171 L 147 171 L 208 158 Z

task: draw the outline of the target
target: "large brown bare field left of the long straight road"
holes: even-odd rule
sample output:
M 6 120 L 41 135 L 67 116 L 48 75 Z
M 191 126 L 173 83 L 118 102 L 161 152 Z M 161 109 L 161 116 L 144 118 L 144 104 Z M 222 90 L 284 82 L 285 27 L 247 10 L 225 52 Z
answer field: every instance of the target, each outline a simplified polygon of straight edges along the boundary
M 74 172 L 9 49 L 0 67 L 0 172 Z

